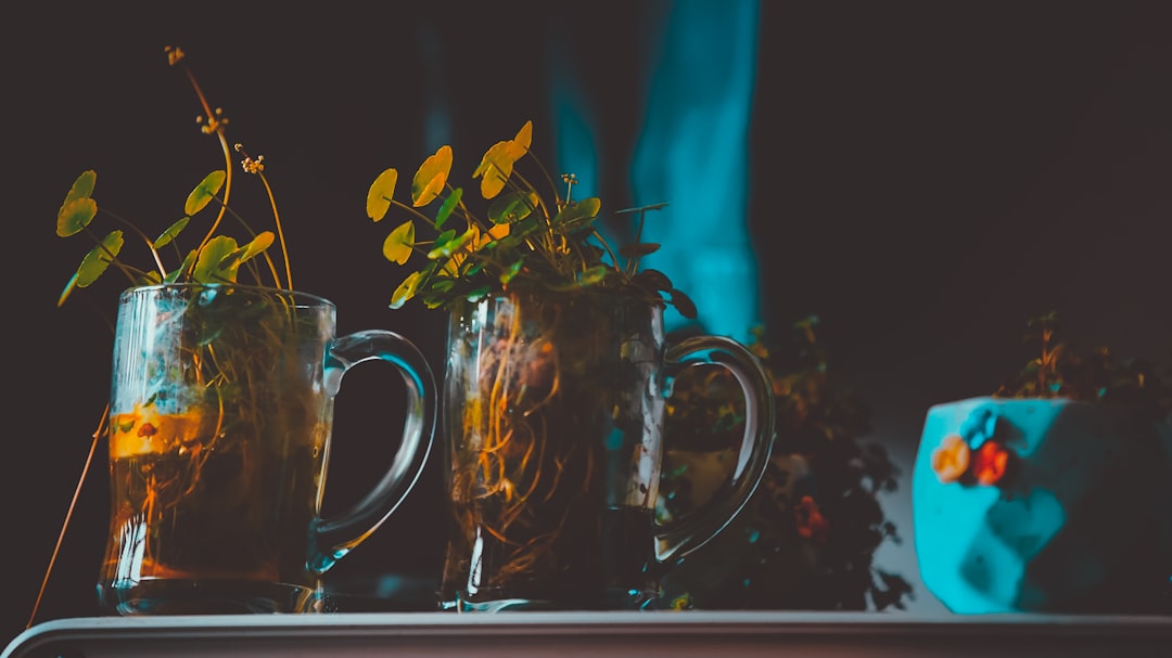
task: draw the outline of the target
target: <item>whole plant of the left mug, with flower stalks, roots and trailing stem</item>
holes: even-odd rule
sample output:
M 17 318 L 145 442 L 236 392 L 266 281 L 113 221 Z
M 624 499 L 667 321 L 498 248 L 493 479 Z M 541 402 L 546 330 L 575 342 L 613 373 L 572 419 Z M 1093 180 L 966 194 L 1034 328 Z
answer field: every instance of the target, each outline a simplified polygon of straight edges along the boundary
M 110 270 L 124 275 L 130 287 L 161 283 L 241 283 L 254 286 L 271 290 L 271 295 L 266 293 L 266 301 L 272 303 L 245 308 L 248 303 L 247 300 L 254 297 L 224 294 L 211 296 L 212 301 L 190 304 L 185 309 L 176 309 L 176 315 L 180 311 L 186 314 L 180 324 L 185 328 L 184 336 L 189 342 L 184 343 L 182 349 L 190 352 L 192 363 L 198 364 L 196 371 L 184 372 L 188 379 L 180 383 L 198 388 L 206 402 L 195 404 L 192 409 L 185 409 L 182 413 L 175 413 L 159 410 L 156 404 L 159 399 L 166 399 L 173 391 L 146 391 L 141 405 L 144 410 L 142 417 L 149 416 L 155 423 L 139 423 L 138 420 L 130 423 L 111 418 L 113 411 L 108 406 L 94 432 L 89 457 L 82 467 L 77 484 L 79 489 L 89 472 L 97 441 L 105 436 L 107 429 L 110 426 L 113 426 L 113 433 L 132 432 L 135 437 L 141 438 L 152 436 L 158 432 L 161 425 L 168 423 L 175 426 L 190 424 L 191 418 L 211 419 L 209 426 L 216 427 L 220 433 L 226 433 L 233 427 L 233 424 L 236 427 L 250 423 L 255 425 L 258 413 L 253 404 L 255 400 L 239 391 L 248 391 L 253 386 L 263 388 L 264 383 L 267 382 L 265 375 L 273 371 L 273 364 L 286 355 L 281 352 L 282 345 L 277 341 L 267 341 L 267 336 L 241 337 L 240 331 L 233 333 L 233 329 L 238 330 L 243 327 L 246 318 L 255 321 L 258 314 L 267 314 L 266 320 L 271 322 L 265 325 L 271 328 L 274 335 L 295 322 L 294 314 L 289 313 L 289 299 L 284 295 L 284 292 L 293 289 L 292 268 L 280 217 L 277 213 L 275 203 L 273 203 L 272 190 L 264 174 L 264 157 L 253 159 L 244 153 L 239 144 L 234 145 L 234 151 L 244 156 L 241 163 L 244 170 L 258 176 L 261 180 L 272 207 L 275 229 L 255 232 L 229 205 L 233 183 L 233 149 L 229 148 L 226 138 L 229 119 L 219 110 L 212 111 L 212 105 L 186 67 L 183 50 L 168 47 L 166 55 L 169 63 L 183 68 L 191 82 L 204 112 L 199 117 L 199 125 L 204 133 L 218 140 L 224 155 L 224 169 L 212 171 L 204 177 L 188 196 L 183 206 L 184 217 L 165 226 L 154 238 L 121 214 L 100 207 L 94 198 L 97 173 L 93 170 L 83 171 L 74 180 L 57 210 L 56 234 L 61 238 L 84 235 L 90 239 L 93 246 L 82 256 L 77 269 L 66 283 L 57 300 L 57 306 L 62 306 L 79 288 L 93 286 Z M 100 231 L 97 228 L 100 217 L 113 221 L 115 227 Z M 246 239 L 238 241 L 223 231 L 225 219 L 234 220 Z M 189 240 L 190 232 L 188 229 L 192 226 L 205 226 L 206 228 L 198 233 L 196 239 Z M 278 269 L 278 265 L 268 254 L 268 248 L 277 241 L 281 246 L 284 272 Z M 180 247 L 182 242 L 186 242 L 186 245 Z M 131 246 L 137 244 L 144 247 L 139 252 L 144 258 L 135 261 L 128 258 L 128 253 L 131 251 Z M 170 266 L 168 265 L 169 260 L 172 263 Z M 234 297 L 244 299 L 237 300 Z M 264 324 L 261 321 L 257 323 Z M 138 417 L 136 416 L 136 418 Z M 203 439 L 189 440 L 185 445 L 179 445 L 183 441 L 157 441 L 158 447 L 152 447 L 152 451 L 165 452 L 168 455 L 173 452 L 180 458 L 180 461 L 185 459 L 190 465 L 190 468 L 178 469 L 180 472 L 178 475 L 158 475 L 156 478 L 154 477 L 156 474 L 150 474 L 152 484 L 148 487 L 146 495 L 151 496 L 152 501 L 157 501 L 158 508 L 176 506 L 178 499 L 182 499 L 183 492 L 189 491 L 190 486 L 202 478 L 206 459 L 202 458 L 200 454 L 211 454 L 213 451 L 211 451 L 210 444 L 216 441 L 219 436 L 216 433 L 206 441 Z M 231 446 L 219 445 L 217 447 L 225 452 Z M 129 457 L 137 459 L 142 455 L 135 453 Z M 143 467 L 144 471 L 146 468 Z M 74 501 L 76 502 L 76 494 Z M 36 618 L 36 611 L 70 515 L 71 506 L 61 528 L 53 558 L 46 569 L 41 591 L 33 606 L 28 625 L 32 625 Z

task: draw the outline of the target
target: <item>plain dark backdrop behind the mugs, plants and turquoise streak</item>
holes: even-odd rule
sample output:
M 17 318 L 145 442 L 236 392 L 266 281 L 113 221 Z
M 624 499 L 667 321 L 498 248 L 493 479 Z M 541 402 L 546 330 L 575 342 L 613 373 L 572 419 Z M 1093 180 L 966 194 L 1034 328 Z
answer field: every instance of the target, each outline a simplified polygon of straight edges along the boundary
M 429 90 L 445 91 L 457 148 L 510 137 L 525 118 L 536 148 L 551 144 L 547 39 L 579 46 L 575 82 L 612 108 L 621 133 L 613 117 L 641 84 L 622 63 L 654 46 L 645 34 L 672 6 L 422 5 L 13 6 L 0 28 L 5 637 L 28 618 L 109 388 L 101 318 L 115 292 L 55 307 L 88 248 L 54 235 L 55 211 L 95 169 L 104 207 L 162 227 L 222 166 L 164 46 L 188 50 L 231 118 L 230 139 L 265 156 L 297 287 L 335 301 L 341 331 L 387 327 L 442 364 L 443 317 L 386 308 L 401 274 L 380 253 L 388 228 L 366 218 L 369 183 L 437 146 L 423 130 Z M 990 393 L 1033 357 L 1024 321 L 1051 309 L 1077 343 L 1168 358 L 1170 18 L 1165 2 L 761 5 L 744 221 L 762 317 L 822 316 L 836 371 L 873 409 L 871 439 L 902 465 L 905 486 L 885 505 L 905 542 L 878 560 L 917 585 L 909 611 L 942 612 L 915 575 L 906 485 L 929 405 Z M 604 166 L 627 166 L 612 160 Z M 370 431 L 390 424 L 380 406 L 339 398 L 335 469 L 347 475 L 335 475 L 335 495 L 360 487 L 387 450 Z M 335 577 L 434 573 L 437 468 Z M 93 612 L 103 478 L 98 454 L 38 621 Z

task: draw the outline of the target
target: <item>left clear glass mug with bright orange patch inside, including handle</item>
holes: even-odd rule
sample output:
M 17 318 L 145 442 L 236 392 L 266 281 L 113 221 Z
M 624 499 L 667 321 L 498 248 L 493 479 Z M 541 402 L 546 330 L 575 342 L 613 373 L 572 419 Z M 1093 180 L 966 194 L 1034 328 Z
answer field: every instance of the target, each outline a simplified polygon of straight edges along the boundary
M 407 338 L 335 335 L 304 293 L 229 285 L 131 288 L 118 301 L 109 410 L 108 615 L 312 612 L 320 576 L 408 495 L 430 451 L 435 379 Z M 382 479 L 320 516 L 334 397 L 354 365 L 406 382 Z M 395 425 L 397 429 L 397 425 Z

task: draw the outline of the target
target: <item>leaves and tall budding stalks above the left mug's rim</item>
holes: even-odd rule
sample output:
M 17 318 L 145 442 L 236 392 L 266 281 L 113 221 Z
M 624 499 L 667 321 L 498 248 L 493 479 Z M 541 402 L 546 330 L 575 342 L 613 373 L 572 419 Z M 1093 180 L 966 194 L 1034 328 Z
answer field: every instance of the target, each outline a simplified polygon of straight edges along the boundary
M 169 61 L 172 66 L 182 66 L 186 69 L 185 56 L 178 48 L 166 49 Z M 254 232 L 248 224 L 238 215 L 229 205 L 227 200 L 232 190 L 233 167 L 232 156 L 226 138 L 227 118 L 223 112 L 212 111 L 211 105 L 195 77 L 188 70 L 188 77 L 203 104 L 205 115 L 199 117 L 203 132 L 216 137 L 224 153 L 225 166 L 214 170 L 204 177 L 191 191 L 184 203 L 184 217 L 172 222 L 157 237 L 151 238 L 137 225 L 124 219 L 117 213 L 107 211 L 97 205 L 94 198 L 94 189 L 97 183 L 97 173 L 94 170 L 83 171 L 73 183 L 69 192 L 66 193 L 61 207 L 57 210 L 56 234 L 61 238 L 74 235 L 86 235 L 90 238 L 93 247 L 82 258 L 76 272 L 66 283 L 57 306 L 66 302 L 69 295 L 77 288 L 91 286 L 100 276 L 108 272 L 111 266 L 121 272 L 131 286 L 144 286 L 155 283 L 236 283 L 239 281 L 241 268 L 251 273 L 252 282 L 255 285 L 272 285 L 275 288 L 292 289 L 292 273 L 289 269 L 288 253 L 285 252 L 285 279 L 278 273 L 275 263 L 267 254 L 267 249 L 274 241 L 280 239 L 281 248 L 285 251 L 285 241 L 281 234 L 280 217 L 273 204 L 273 219 L 275 221 L 275 233 L 273 231 Z M 236 151 L 241 152 L 243 148 L 237 144 Z M 252 159 L 245 157 L 243 166 L 245 171 L 260 177 L 265 187 L 268 183 L 264 176 L 263 157 Z M 270 190 L 270 199 L 272 193 Z M 207 212 L 204 212 L 207 210 Z M 105 233 L 98 232 L 93 226 L 94 219 L 102 213 L 113 220 L 116 227 Z M 180 237 L 191 225 L 197 213 L 213 215 L 207 225 L 206 232 L 199 238 L 198 244 L 186 252 L 180 249 Z M 239 244 L 230 235 L 218 233 L 222 220 L 232 217 L 248 233 L 250 239 L 245 244 Z M 146 265 L 132 265 L 123 255 L 127 242 L 127 231 L 130 231 L 143 242 L 150 256 Z M 164 251 L 173 249 L 178 265 L 169 268 L 164 265 Z M 257 267 L 254 259 L 261 256 L 267 268 Z

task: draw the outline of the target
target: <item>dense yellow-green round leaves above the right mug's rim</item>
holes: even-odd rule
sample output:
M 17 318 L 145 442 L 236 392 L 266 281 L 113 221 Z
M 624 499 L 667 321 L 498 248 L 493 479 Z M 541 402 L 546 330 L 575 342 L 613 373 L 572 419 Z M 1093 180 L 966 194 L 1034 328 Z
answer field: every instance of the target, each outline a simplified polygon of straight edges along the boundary
M 476 302 L 511 287 L 530 287 L 640 295 L 670 303 L 694 318 L 695 304 L 667 275 L 639 267 L 639 260 L 659 245 L 636 241 L 616 254 L 595 227 L 601 201 L 597 197 L 573 200 L 573 174 L 561 177 L 566 185 L 561 197 L 531 152 L 532 131 L 532 122 L 526 122 L 512 139 L 497 142 L 481 158 L 471 177 L 479 179 L 483 211 L 473 210 L 464 187 L 451 183 L 450 145 L 441 146 L 415 172 L 409 203 L 395 197 L 396 169 L 379 174 L 367 193 L 367 215 L 381 221 L 391 206 L 410 214 L 387 235 L 382 253 L 397 265 L 413 258 L 422 262 L 395 289 L 390 308 L 413 297 L 427 308 L 450 308 L 461 300 Z M 539 193 L 522 172 L 526 160 L 547 193 Z M 635 215 L 641 234 L 646 213 L 665 205 L 620 213 Z M 435 206 L 434 214 L 422 212 L 427 206 Z M 620 256 L 626 259 L 621 265 Z

